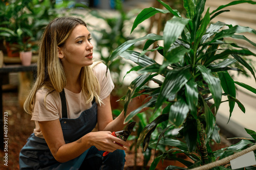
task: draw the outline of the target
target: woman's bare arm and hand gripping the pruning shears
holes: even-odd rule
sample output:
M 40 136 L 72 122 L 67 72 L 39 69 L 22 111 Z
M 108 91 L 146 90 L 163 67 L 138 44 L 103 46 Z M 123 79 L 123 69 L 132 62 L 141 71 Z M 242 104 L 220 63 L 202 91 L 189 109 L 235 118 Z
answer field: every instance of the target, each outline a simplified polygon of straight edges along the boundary
M 113 141 L 130 146 L 130 143 L 112 136 L 109 131 L 91 132 L 74 142 L 66 144 L 59 119 L 39 122 L 39 126 L 52 155 L 59 162 L 72 160 L 93 145 L 101 151 L 108 152 L 114 152 L 117 149 L 127 150 L 126 147 L 121 147 Z

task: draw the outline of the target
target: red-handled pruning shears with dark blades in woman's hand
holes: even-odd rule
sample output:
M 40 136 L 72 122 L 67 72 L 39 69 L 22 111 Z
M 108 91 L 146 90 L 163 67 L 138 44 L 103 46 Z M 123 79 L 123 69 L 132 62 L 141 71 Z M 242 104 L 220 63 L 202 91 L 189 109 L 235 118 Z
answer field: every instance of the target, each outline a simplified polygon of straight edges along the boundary
M 128 139 L 128 137 L 131 135 L 135 124 L 136 124 L 136 122 L 131 122 L 131 123 L 127 124 L 126 127 L 122 131 L 112 132 L 112 135 L 126 141 Z M 120 143 L 116 143 L 116 144 L 123 146 Z M 109 154 L 109 152 L 104 152 L 103 156 L 106 156 L 108 154 Z

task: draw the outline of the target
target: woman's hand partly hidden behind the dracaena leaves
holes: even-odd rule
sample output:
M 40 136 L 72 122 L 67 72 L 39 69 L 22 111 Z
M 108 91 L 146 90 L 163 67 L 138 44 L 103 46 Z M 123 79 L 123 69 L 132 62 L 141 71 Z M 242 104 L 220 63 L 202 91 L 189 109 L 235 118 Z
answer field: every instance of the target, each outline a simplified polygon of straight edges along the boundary
M 149 96 L 148 94 L 142 94 L 142 95 L 139 95 L 139 96 L 136 96 L 135 98 L 133 98 L 127 107 L 127 113 L 131 113 L 135 109 L 139 108 L 140 106 L 142 106 L 145 103 L 147 103 L 148 101 L 150 101 L 151 98 L 148 98 L 148 96 Z M 147 109 L 148 108 L 143 108 L 140 110 L 139 113 L 144 112 Z

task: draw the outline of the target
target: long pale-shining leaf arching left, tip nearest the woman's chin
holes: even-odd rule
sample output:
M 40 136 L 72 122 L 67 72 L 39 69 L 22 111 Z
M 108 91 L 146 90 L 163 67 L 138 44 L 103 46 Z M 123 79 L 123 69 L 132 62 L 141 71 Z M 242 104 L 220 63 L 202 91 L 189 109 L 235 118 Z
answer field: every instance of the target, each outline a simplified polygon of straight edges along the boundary
M 116 48 L 116 50 L 111 54 L 111 56 L 108 58 L 108 65 L 110 65 L 110 63 L 117 58 L 121 53 L 123 53 L 124 51 L 126 51 L 128 48 L 130 48 L 133 44 L 135 44 L 138 41 L 143 41 L 146 39 L 149 40 L 162 40 L 162 36 L 160 35 L 156 35 L 156 34 L 147 34 L 144 37 L 138 38 L 138 39 L 133 39 L 133 40 L 128 40 L 125 41 L 124 43 L 122 43 L 122 45 L 118 46 Z

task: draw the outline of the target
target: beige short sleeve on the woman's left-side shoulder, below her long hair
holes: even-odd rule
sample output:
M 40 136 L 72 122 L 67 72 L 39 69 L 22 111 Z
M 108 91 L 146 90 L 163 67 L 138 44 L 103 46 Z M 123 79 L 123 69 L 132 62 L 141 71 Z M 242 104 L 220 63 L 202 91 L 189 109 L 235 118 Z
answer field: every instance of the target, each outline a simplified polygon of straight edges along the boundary
M 44 90 L 37 90 L 31 120 L 40 122 L 59 119 L 60 99 L 55 92 L 52 92 L 47 95 L 45 102 L 45 95 Z

